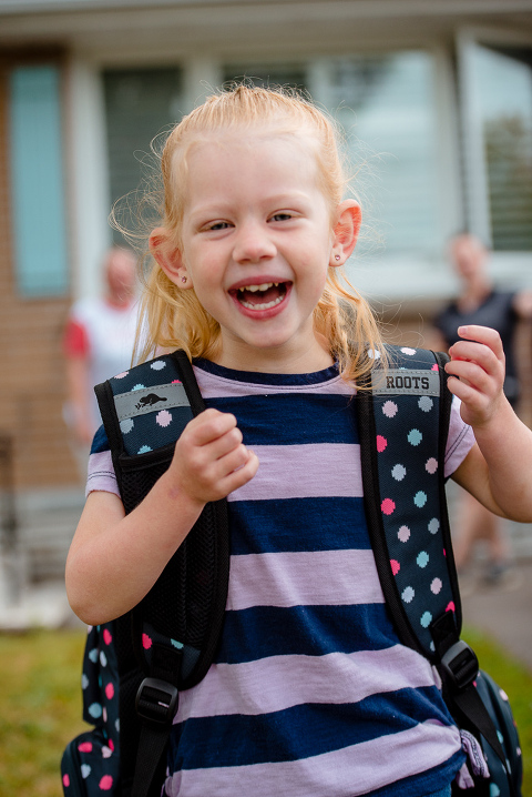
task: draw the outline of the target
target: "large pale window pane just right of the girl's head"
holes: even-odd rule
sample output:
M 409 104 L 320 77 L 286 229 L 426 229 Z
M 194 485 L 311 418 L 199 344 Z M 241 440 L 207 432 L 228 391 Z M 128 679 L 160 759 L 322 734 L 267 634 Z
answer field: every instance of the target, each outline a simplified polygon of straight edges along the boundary
M 354 188 L 370 216 L 359 251 L 441 249 L 432 69 L 427 52 L 323 62 L 320 99 L 346 130 Z

